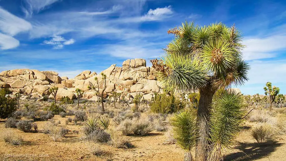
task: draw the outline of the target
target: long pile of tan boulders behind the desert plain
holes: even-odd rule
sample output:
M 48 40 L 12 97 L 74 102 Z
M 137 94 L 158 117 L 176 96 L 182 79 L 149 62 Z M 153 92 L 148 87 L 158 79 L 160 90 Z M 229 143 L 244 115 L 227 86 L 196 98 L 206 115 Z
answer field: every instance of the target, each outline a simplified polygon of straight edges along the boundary
M 128 59 L 122 66 L 112 64 L 102 71 L 106 74 L 105 95 L 116 90 L 122 93 L 123 97 L 137 94 L 143 95 L 144 99 L 150 100 L 154 93 L 162 93 L 162 84 L 156 80 L 154 68 L 146 67 L 144 59 Z M 54 71 L 39 71 L 30 69 L 6 70 L 0 73 L 0 88 L 9 88 L 13 94 L 21 93 L 21 99 L 30 95 L 32 99 L 41 100 L 44 95 L 49 95 L 51 87 L 58 87 L 57 100 L 67 96 L 75 99 L 75 90 L 84 91 L 84 98 L 97 100 L 95 92 L 90 90 L 90 83 L 97 86 L 94 78 L 98 78 L 100 91 L 103 89 L 103 80 L 100 74 L 91 71 L 83 71 L 75 78 L 60 77 Z

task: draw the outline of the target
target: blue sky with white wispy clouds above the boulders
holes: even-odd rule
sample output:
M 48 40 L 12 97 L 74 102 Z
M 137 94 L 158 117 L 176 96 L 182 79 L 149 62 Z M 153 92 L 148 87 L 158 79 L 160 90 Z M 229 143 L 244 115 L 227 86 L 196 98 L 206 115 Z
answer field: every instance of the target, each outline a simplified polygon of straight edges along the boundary
M 251 65 L 242 93 L 263 94 L 271 81 L 286 94 L 286 1 L 0 0 L 0 71 L 72 78 L 129 58 L 149 62 L 173 39 L 167 30 L 185 20 L 235 23 Z

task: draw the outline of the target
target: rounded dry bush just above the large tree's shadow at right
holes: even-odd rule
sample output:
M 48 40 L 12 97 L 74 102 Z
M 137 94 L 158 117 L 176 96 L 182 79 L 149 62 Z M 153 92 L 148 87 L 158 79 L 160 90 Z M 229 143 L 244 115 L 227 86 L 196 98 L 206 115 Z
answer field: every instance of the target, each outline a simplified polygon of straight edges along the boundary
M 257 143 L 261 143 L 273 140 L 274 134 L 271 126 L 262 124 L 251 130 L 251 136 L 257 141 Z

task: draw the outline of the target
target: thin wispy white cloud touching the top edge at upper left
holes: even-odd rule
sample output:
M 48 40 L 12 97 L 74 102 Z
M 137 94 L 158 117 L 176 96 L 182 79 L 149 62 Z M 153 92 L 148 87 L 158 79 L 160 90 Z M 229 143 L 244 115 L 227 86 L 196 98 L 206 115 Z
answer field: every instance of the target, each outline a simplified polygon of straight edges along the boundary
M 26 6 L 22 7 L 22 11 L 26 17 L 31 16 L 33 12 L 39 13 L 39 11 L 45 9 L 49 5 L 61 0 L 24 0 Z

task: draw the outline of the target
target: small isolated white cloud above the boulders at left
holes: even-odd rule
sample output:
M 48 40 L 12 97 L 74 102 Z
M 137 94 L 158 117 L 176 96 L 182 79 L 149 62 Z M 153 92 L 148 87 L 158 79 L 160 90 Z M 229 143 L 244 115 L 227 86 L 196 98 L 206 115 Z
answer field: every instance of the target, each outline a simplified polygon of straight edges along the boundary
M 52 45 L 53 49 L 62 49 L 64 45 L 74 44 L 74 39 L 65 40 L 62 36 L 53 36 L 51 40 L 45 40 L 43 45 Z

